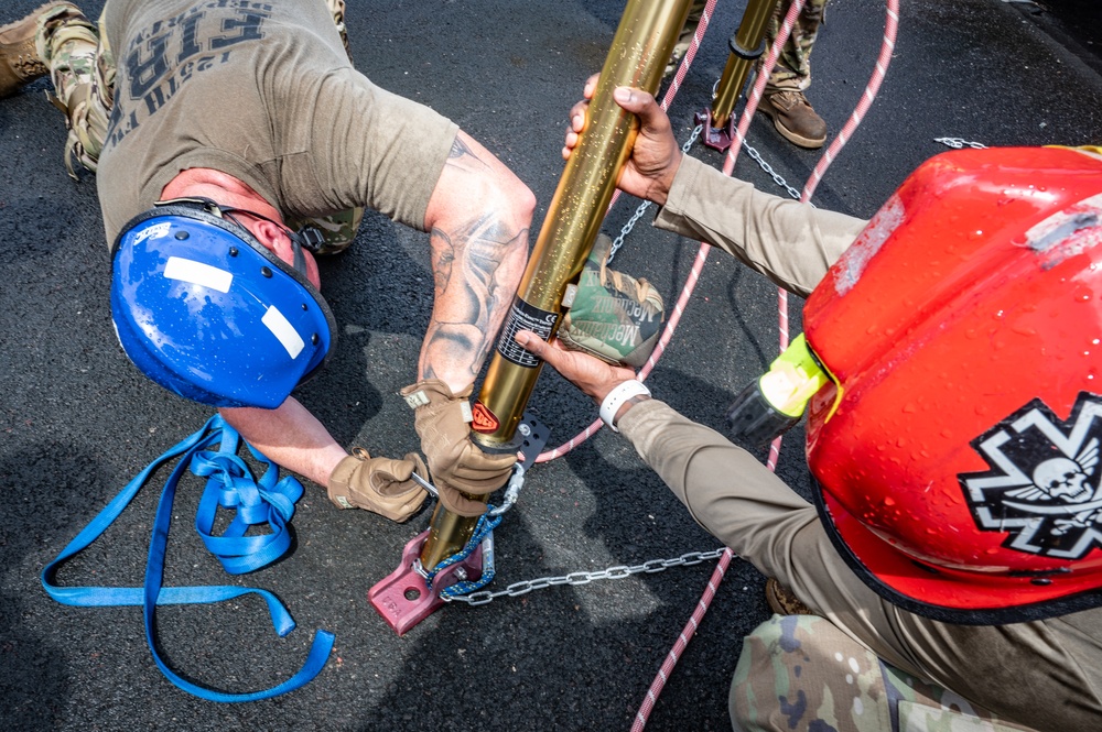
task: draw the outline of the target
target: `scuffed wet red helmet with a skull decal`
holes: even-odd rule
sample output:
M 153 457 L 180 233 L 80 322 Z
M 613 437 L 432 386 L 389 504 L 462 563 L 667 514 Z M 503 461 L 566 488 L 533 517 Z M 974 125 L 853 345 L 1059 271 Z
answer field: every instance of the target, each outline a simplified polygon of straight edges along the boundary
M 955 623 L 1102 605 L 1102 155 L 916 171 L 804 309 L 808 463 L 880 596 Z

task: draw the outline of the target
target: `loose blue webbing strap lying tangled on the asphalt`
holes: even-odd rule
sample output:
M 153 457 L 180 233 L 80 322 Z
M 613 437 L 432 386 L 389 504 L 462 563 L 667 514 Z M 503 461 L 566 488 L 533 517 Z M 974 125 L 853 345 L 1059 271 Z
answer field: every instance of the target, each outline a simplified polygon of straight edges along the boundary
M 218 439 L 220 451 L 203 451 Z M 191 467 L 196 476 L 207 477 L 206 488 L 195 516 L 195 527 L 204 543 L 218 556 L 223 567 L 230 573 L 242 573 L 258 569 L 278 559 L 290 546 L 287 524 L 294 513 L 294 503 L 302 495 L 298 480 L 287 477 L 277 481 L 279 468 L 249 447 L 259 461 L 268 468 L 259 481 L 245 462 L 237 457 L 239 444 L 237 431 L 215 415 L 201 430 L 170 448 L 164 455 L 145 467 L 116 495 L 99 514 L 62 549 L 53 561 L 42 570 L 42 587 L 57 602 L 67 605 L 142 605 L 145 620 L 145 640 L 153 660 L 164 676 L 181 689 L 208 701 L 256 701 L 269 699 L 298 689 L 311 681 L 325 666 L 333 649 L 333 634 L 318 630 L 302 668 L 278 686 L 249 693 L 226 693 L 186 681 L 161 659 L 153 637 L 153 612 L 158 604 L 212 603 L 231 600 L 244 594 L 259 594 L 268 604 L 272 625 L 280 636 L 294 630 L 291 613 L 280 600 L 266 590 L 229 586 L 210 587 L 161 587 L 164 576 L 164 549 L 169 539 L 169 522 L 176 483 L 184 470 Z M 153 521 L 153 533 L 149 545 L 149 560 L 145 565 L 143 587 L 58 587 L 54 583 L 58 566 L 95 542 L 129 505 L 138 491 L 149 481 L 150 476 L 162 465 L 180 457 L 172 473 L 165 480 Z M 212 536 L 214 515 L 217 506 L 237 507 L 237 515 L 223 536 Z M 252 524 L 267 522 L 272 534 L 244 536 Z

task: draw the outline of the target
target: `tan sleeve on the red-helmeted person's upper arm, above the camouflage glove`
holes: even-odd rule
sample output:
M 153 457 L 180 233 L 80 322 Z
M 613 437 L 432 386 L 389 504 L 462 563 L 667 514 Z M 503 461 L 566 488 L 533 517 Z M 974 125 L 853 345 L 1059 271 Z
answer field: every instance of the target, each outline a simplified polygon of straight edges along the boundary
M 779 287 L 806 297 L 866 221 L 755 190 L 682 159 L 655 226 L 735 255 Z

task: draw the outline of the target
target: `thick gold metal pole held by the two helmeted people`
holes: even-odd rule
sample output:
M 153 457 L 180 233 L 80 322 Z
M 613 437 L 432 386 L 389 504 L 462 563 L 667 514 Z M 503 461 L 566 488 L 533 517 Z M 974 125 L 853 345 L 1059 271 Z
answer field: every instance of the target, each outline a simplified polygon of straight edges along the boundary
M 630 86 L 658 91 L 691 4 L 692 0 L 628 0 L 624 9 L 590 103 L 586 127 L 551 199 L 474 406 L 474 438 L 487 451 L 516 449 L 517 425 L 542 365 L 512 337 L 519 330 L 532 330 L 545 340 L 554 336 L 566 285 L 582 271 L 631 152 L 639 121 L 620 109 L 613 89 Z M 421 550 L 422 566 L 431 570 L 462 549 L 477 521 L 456 516 L 437 504 Z

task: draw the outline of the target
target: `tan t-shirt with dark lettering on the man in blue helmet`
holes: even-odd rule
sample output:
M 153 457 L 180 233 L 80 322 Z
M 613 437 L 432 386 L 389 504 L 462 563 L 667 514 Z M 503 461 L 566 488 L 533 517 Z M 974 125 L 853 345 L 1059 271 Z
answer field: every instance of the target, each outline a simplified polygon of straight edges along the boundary
M 424 227 L 456 125 L 371 84 L 321 0 L 109 0 L 118 67 L 97 173 L 108 243 L 209 167 L 284 216 L 354 206 Z

